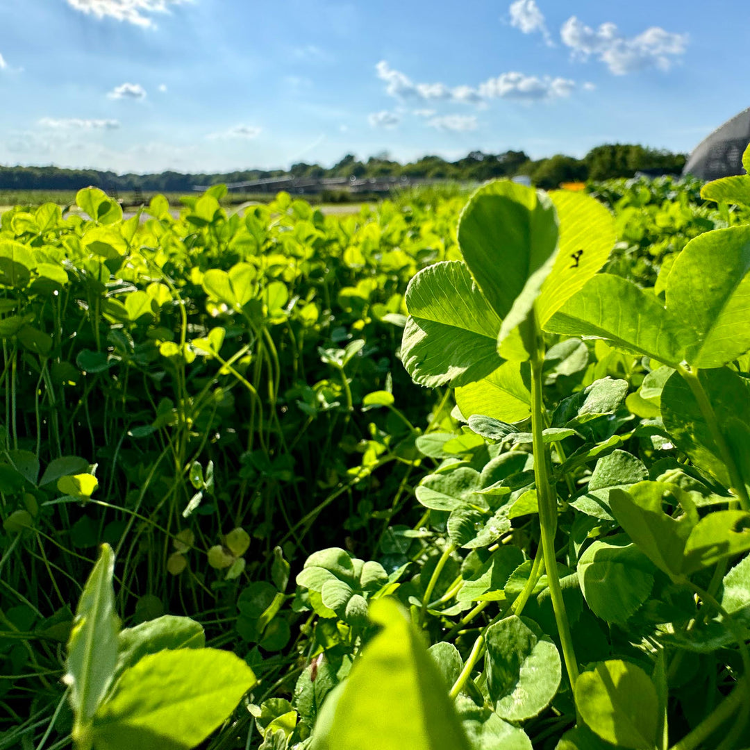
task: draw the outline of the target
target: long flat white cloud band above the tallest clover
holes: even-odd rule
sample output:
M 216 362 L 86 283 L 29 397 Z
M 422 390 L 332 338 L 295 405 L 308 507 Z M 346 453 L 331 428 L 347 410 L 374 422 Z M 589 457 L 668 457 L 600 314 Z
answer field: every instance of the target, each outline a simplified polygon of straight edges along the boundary
M 386 82 L 386 94 L 395 98 L 416 98 L 422 101 L 451 101 L 459 104 L 486 105 L 487 100 L 513 98 L 534 101 L 564 98 L 571 95 L 574 81 L 560 77 L 526 76 L 523 73 L 503 73 L 479 86 L 446 86 L 444 83 L 413 83 L 401 71 L 395 71 L 385 60 L 375 69 L 380 80 Z M 425 115 L 429 116 L 429 115 Z

